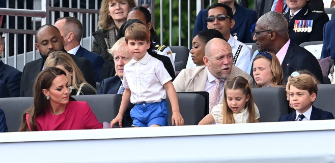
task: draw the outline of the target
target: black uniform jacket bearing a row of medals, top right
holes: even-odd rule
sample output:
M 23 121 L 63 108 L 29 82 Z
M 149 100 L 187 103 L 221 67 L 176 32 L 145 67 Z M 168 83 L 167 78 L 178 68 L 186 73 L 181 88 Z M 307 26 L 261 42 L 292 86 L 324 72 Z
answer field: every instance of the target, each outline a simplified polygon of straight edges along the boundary
M 313 12 L 308 5 L 305 5 L 293 18 L 289 21 L 290 10 L 284 15 L 289 23 L 289 35 L 291 42 L 300 45 L 309 41 L 322 41 L 323 40 L 323 26 L 329 21 L 326 13 Z M 313 27 L 311 32 L 295 32 L 295 20 L 313 20 Z

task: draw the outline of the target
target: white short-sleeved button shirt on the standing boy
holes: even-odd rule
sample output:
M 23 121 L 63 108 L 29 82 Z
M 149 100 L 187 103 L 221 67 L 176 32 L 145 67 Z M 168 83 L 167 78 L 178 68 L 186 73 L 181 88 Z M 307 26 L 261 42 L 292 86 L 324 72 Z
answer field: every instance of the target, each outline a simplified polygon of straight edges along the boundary
M 124 66 L 123 87 L 130 89 L 130 102 L 158 103 L 166 97 L 164 84 L 172 80 L 163 62 L 148 52 L 141 60 L 132 58 Z

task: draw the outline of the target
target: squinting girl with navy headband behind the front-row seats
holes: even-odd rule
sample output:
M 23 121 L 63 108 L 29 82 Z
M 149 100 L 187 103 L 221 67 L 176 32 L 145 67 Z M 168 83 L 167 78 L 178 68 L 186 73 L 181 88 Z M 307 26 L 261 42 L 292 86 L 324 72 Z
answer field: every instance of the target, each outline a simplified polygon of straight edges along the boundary
M 256 88 L 284 86 L 284 75 L 280 61 L 274 54 L 260 52 L 253 63 Z

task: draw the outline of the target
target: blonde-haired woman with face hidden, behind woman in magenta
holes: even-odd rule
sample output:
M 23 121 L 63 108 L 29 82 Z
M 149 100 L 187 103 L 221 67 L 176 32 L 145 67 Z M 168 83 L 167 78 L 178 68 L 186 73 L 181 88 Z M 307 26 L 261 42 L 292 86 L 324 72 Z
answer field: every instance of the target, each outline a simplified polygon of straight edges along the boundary
M 96 89 L 83 78 L 73 59 L 63 51 L 49 54 L 45 60 L 45 68 L 56 67 L 66 73 L 70 86 L 70 95 L 96 94 Z

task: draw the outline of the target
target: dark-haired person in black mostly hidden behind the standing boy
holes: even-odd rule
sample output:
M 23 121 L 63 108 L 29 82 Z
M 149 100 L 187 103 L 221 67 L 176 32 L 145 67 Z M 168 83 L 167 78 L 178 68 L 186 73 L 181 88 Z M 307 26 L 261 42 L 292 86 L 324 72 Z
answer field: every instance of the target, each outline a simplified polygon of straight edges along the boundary
M 119 33 L 118 33 L 118 39 L 121 39 L 122 37 L 124 37 L 125 35 L 125 31 L 127 29 L 128 26 L 130 26 L 133 23 L 141 23 L 144 24 L 141 20 L 139 19 L 130 19 L 127 20 L 124 24 L 121 25 Z M 152 41 L 150 41 L 152 42 Z M 157 54 L 154 50 L 154 45 L 150 44 L 150 48 L 147 50 L 148 53 L 157 58 L 158 60 L 162 61 L 164 64 L 164 68 L 167 70 L 167 72 L 170 74 L 170 76 L 172 77 L 172 80 L 174 80 L 176 78 L 176 74 L 175 74 L 175 70 L 173 68 L 173 65 L 170 61 L 170 58 L 167 56 L 163 56 L 163 55 L 159 55 Z

